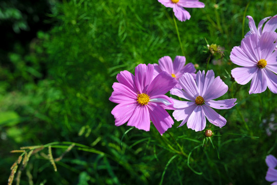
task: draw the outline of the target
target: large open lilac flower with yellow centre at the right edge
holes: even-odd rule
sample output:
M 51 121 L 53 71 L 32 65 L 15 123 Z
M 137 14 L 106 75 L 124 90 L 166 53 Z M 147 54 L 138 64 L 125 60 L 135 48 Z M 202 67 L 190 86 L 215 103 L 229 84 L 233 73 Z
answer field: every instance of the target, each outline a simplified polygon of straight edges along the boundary
M 277 93 L 276 39 L 276 32 L 264 32 L 260 39 L 258 34 L 251 34 L 242 40 L 241 46 L 235 46 L 231 51 L 231 61 L 243 66 L 232 69 L 231 74 L 241 85 L 252 79 L 249 94 L 262 93 L 267 87 Z

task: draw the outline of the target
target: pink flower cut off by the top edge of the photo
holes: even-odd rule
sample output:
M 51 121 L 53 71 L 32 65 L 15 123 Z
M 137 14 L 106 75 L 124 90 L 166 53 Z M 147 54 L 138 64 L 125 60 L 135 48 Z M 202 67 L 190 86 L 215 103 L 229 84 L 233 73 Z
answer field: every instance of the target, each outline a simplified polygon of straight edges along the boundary
M 190 14 L 184 8 L 204 8 L 205 4 L 199 0 L 158 0 L 165 7 L 173 8 L 174 15 L 179 21 L 190 19 Z M 184 8 L 183 8 L 184 7 Z

